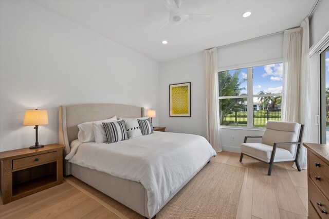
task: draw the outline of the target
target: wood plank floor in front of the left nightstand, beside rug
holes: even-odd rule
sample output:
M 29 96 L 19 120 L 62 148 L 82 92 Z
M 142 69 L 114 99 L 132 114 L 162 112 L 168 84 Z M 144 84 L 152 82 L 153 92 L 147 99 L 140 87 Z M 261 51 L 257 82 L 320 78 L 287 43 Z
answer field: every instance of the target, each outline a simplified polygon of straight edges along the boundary
M 66 181 L 0 205 L 0 218 L 120 218 Z

